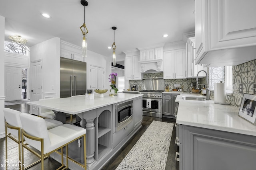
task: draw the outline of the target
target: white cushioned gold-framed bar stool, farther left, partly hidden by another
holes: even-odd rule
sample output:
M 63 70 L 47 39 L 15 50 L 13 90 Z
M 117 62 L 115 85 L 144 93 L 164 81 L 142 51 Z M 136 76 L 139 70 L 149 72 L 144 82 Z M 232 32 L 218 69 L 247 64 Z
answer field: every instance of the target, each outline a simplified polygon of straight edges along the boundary
M 10 109 L 10 108 L 4 108 L 4 117 L 5 117 L 5 155 L 6 155 L 6 160 L 8 157 L 7 151 L 8 151 L 8 143 L 7 143 L 7 138 L 12 139 L 14 142 L 18 144 L 19 148 L 19 160 L 21 161 L 21 129 L 22 129 L 22 124 L 20 121 L 20 111 Z M 33 115 L 32 115 L 33 116 Z M 37 116 L 33 116 L 37 117 Z M 56 121 L 52 119 L 44 119 L 46 122 L 46 126 L 48 129 L 57 127 L 59 125 L 62 125 L 63 123 L 61 121 Z M 36 164 L 38 162 L 34 162 L 32 165 Z M 7 166 L 6 166 L 7 169 Z

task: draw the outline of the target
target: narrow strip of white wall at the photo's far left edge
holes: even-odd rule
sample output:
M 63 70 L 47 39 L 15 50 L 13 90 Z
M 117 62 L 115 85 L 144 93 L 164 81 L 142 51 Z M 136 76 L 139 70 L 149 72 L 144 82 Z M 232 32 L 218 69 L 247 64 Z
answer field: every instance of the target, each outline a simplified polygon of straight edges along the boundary
M 0 79 L 4 80 L 4 17 L 0 16 Z M 5 137 L 4 128 L 4 81 L 0 81 L 0 138 Z

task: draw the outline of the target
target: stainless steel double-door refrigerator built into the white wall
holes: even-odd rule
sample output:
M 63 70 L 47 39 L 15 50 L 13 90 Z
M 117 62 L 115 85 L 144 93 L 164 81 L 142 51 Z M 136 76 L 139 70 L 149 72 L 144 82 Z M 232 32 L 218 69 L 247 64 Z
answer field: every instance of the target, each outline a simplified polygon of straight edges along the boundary
M 86 63 L 60 57 L 60 98 L 86 94 Z

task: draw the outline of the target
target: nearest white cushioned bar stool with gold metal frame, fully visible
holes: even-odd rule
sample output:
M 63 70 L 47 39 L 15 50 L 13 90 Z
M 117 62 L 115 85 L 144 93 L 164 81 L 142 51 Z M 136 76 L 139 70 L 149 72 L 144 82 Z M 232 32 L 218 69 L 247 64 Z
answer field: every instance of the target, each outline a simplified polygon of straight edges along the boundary
M 81 137 L 84 139 L 82 147 L 84 148 L 84 154 L 86 154 L 86 129 L 75 125 L 63 124 L 48 130 L 42 117 L 34 117 L 27 113 L 21 113 L 20 120 L 22 123 L 22 153 L 24 153 L 24 148 L 26 148 L 40 158 L 42 170 L 44 170 L 44 157 L 58 149 L 61 149 L 62 166 L 60 166 L 60 168 L 65 168 L 63 161 L 64 147 L 66 147 L 66 169 L 68 169 L 68 160 L 71 160 L 86 170 L 86 155 L 84 155 L 84 164 L 74 161 L 72 158 L 68 157 L 68 144 L 80 139 Z M 26 143 L 34 149 L 24 145 L 23 139 L 25 139 Z M 41 153 L 38 154 L 35 149 Z M 24 164 L 23 156 L 21 163 Z

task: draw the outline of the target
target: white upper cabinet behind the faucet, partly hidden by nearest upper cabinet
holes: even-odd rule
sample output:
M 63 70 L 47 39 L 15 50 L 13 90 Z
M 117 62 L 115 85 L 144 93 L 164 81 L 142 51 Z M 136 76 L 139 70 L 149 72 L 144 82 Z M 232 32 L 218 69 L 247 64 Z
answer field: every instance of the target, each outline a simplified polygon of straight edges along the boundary
M 203 66 L 203 64 L 196 64 L 196 55 L 195 55 L 195 37 L 188 38 L 188 41 L 186 43 L 187 46 L 187 78 L 195 78 L 198 71 L 205 70 L 207 71 L 207 68 Z M 205 77 L 204 72 L 200 72 L 198 74 L 198 77 L 202 78 Z

